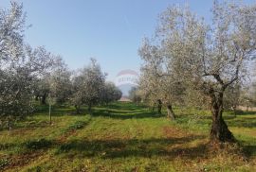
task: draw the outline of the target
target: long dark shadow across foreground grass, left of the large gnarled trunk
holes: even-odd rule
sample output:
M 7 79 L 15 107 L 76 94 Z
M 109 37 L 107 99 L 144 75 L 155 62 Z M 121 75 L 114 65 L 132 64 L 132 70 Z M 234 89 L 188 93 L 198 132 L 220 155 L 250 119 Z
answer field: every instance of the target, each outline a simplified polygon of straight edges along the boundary
M 74 140 L 59 146 L 57 154 L 75 155 L 79 157 L 101 157 L 103 159 L 153 156 L 174 158 L 178 156 L 193 159 L 205 156 L 205 145 L 194 147 L 174 147 L 176 144 L 185 144 L 203 136 L 187 136 L 181 138 L 163 138 L 146 140 Z

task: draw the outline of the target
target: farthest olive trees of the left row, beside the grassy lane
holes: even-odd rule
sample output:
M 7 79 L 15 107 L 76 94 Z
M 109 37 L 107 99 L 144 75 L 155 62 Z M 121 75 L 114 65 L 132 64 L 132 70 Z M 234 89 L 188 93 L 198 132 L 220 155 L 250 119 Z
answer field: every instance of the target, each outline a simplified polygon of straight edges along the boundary
M 105 77 L 100 64 L 94 59 L 76 73 L 72 81 L 71 102 L 77 113 L 81 113 L 82 105 L 86 105 L 88 112 L 91 112 L 95 105 L 119 100 L 121 92 L 114 84 L 105 82 Z

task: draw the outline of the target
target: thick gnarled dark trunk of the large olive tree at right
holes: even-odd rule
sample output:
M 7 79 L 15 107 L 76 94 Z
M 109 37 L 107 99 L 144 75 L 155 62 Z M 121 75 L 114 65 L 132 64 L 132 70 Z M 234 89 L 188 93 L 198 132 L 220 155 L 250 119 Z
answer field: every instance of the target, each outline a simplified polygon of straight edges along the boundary
M 234 142 L 234 136 L 225 123 L 223 113 L 223 93 L 210 94 L 210 111 L 212 124 L 210 129 L 210 140 L 217 142 Z

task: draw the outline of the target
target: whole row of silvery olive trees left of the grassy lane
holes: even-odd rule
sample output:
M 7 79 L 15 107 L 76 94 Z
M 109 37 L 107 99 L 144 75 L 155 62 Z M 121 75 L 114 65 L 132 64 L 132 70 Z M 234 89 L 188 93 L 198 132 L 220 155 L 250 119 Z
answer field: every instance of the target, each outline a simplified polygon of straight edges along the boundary
M 10 5 L 10 9 L 0 9 L 0 127 L 11 129 L 15 121 L 32 114 L 35 100 L 72 105 L 77 113 L 82 106 L 90 112 L 92 106 L 119 100 L 119 88 L 105 80 L 96 60 L 71 71 L 61 56 L 25 43 L 23 6 Z

